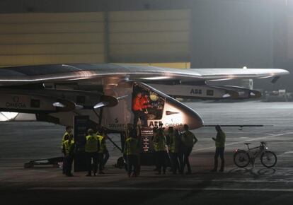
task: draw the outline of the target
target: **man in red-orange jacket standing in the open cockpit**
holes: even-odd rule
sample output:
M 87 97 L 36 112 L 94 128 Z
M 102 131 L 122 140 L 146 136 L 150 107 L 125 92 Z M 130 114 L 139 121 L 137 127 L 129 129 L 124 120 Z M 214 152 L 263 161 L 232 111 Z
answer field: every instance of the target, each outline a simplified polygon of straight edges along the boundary
M 144 113 L 144 105 L 141 92 L 137 93 L 137 96 L 134 98 L 132 110 L 134 114 L 134 127 L 137 127 L 137 122 L 139 118 L 144 121 L 144 127 L 147 127 L 146 113 Z

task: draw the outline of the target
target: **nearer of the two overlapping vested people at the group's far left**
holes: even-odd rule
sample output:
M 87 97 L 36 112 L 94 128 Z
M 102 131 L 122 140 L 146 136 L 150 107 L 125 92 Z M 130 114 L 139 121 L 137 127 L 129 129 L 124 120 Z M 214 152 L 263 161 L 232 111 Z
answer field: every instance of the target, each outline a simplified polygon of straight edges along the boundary
M 74 148 L 75 143 L 73 140 L 73 136 L 69 135 L 69 138 L 63 142 L 62 151 L 64 153 L 65 164 L 63 164 L 65 168 L 65 174 L 67 177 L 73 177 L 71 173 L 72 163 L 74 160 Z

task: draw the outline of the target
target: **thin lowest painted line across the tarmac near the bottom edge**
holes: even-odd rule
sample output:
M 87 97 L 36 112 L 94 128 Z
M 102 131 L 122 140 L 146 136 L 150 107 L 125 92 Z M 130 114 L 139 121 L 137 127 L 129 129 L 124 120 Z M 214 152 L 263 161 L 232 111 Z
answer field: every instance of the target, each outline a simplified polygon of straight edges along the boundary
M 229 191 L 229 192 L 293 192 L 293 189 L 249 189 L 249 188 L 222 188 L 222 187 L 206 187 L 206 188 L 150 188 L 150 187 L 34 187 L 27 190 L 35 191 L 178 191 L 178 192 L 193 192 L 193 191 Z

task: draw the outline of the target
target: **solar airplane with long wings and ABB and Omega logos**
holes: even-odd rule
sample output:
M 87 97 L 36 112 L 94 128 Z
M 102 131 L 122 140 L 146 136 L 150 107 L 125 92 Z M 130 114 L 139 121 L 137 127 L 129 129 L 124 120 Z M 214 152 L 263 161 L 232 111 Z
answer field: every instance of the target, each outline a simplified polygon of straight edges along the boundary
M 116 64 L 54 64 L 0 69 L 0 111 L 33 113 L 38 121 L 72 125 L 75 115 L 110 131 L 133 122 L 137 90 L 149 95 L 147 124 L 190 129 L 203 126 L 200 115 L 173 97 L 200 99 L 258 98 L 257 90 L 210 86 L 211 81 L 279 78 L 283 69 L 168 69 Z

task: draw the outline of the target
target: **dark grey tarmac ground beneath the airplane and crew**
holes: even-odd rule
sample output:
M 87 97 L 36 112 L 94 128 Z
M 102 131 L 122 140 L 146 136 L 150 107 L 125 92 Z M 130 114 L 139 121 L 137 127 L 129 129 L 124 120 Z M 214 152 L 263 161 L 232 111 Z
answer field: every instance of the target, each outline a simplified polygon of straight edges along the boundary
M 293 103 L 292 102 L 186 102 L 205 124 L 265 124 L 265 127 L 224 127 L 226 167 L 209 172 L 216 135 L 213 127 L 194 131 L 198 142 L 190 158 L 192 175 L 155 175 L 154 167 L 142 167 L 139 177 L 128 178 L 113 165 L 120 152 L 109 145 L 105 175 L 85 177 L 74 172 L 64 177 L 61 168 L 23 168 L 37 158 L 60 156 L 64 127 L 44 122 L 0 123 L 1 204 L 292 204 L 293 201 Z M 114 141 L 119 141 L 115 135 Z M 277 154 L 277 165 L 237 168 L 236 148 L 244 142 L 268 143 Z

